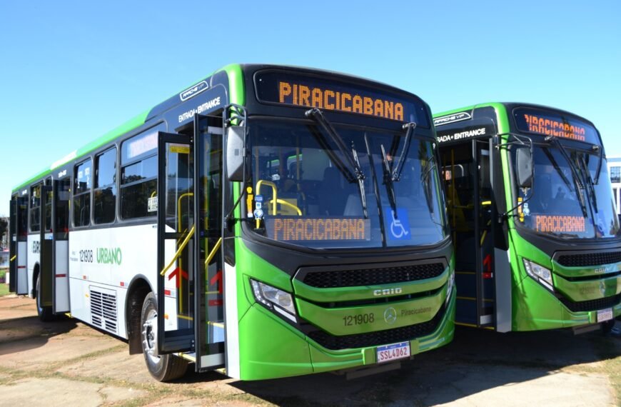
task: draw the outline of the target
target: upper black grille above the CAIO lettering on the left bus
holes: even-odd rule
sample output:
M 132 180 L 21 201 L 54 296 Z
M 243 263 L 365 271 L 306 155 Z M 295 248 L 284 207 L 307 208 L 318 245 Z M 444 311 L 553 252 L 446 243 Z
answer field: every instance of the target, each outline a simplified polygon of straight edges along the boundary
M 375 286 L 435 278 L 444 269 L 443 263 L 427 263 L 358 270 L 310 271 L 302 281 L 317 288 Z

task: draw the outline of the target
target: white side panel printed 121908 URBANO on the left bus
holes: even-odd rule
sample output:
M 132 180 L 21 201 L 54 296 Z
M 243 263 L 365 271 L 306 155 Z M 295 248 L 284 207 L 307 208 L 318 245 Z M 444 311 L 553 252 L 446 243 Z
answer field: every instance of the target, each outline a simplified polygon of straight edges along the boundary
M 156 290 L 157 226 L 100 228 L 69 233 L 69 293 L 71 315 L 91 321 L 89 286 L 116 293 L 118 336 L 126 333 L 127 288 L 144 276 Z M 89 322 L 90 323 L 90 322 Z

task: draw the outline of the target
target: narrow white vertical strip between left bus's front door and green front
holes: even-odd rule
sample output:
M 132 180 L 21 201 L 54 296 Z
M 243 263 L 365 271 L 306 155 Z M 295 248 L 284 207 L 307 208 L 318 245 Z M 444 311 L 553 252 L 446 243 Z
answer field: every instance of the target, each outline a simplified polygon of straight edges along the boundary
M 235 266 L 224 263 L 224 326 L 226 326 L 226 376 L 240 378 L 237 275 Z

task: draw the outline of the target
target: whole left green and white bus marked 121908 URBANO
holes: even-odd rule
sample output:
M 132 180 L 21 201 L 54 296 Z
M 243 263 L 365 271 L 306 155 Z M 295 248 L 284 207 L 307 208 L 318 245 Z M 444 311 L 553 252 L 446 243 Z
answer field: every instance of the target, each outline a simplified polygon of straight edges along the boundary
M 226 66 L 14 189 L 11 288 L 161 381 L 387 370 L 453 338 L 436 143 L 405 91 Z

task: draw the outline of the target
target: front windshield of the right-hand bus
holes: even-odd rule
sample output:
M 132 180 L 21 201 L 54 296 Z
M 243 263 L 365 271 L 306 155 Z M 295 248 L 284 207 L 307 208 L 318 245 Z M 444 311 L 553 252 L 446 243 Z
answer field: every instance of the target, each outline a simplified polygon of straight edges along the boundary
M 535 181 L 533 191 L 518 191 L 525 201 L 519 223 L 560 238 L 620 236 L 605 159 L 600 168 L 597 152 L 565 151 L 571 163 L 555 146 L 534 147 Z

